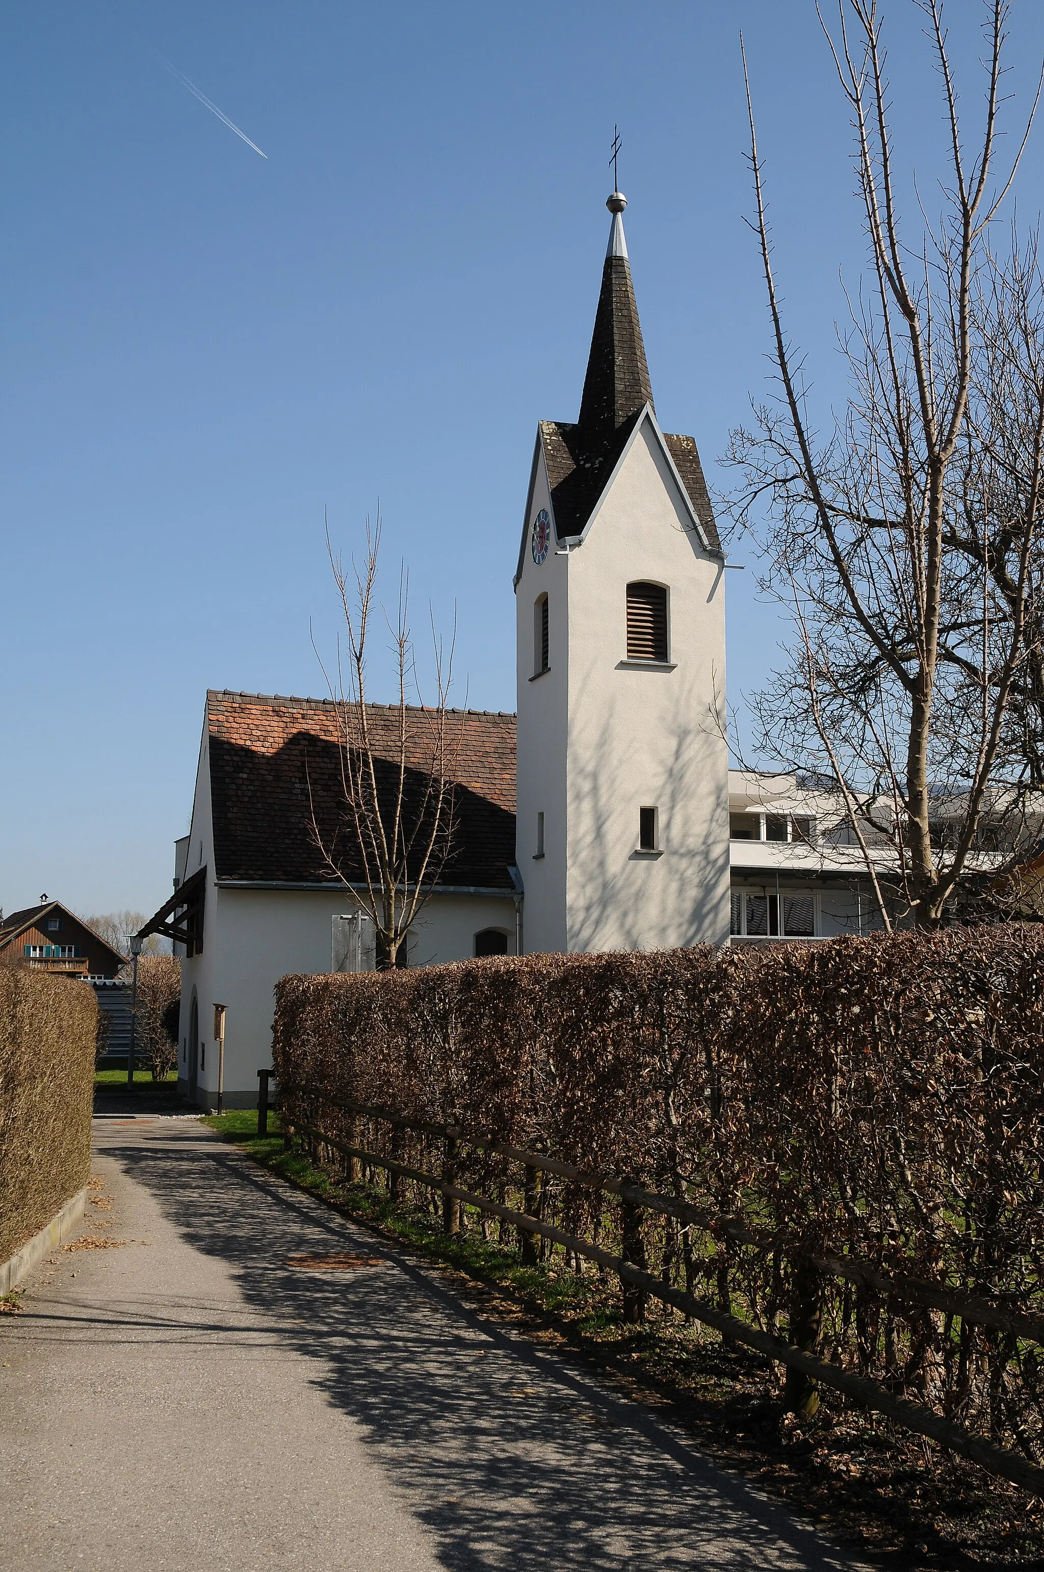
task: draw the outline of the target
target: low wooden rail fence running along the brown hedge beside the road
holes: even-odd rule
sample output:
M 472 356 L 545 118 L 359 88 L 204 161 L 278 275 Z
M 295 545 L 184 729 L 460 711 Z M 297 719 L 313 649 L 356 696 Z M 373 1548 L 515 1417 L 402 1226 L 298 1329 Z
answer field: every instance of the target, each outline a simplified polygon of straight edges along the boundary
M 800 1385 L 808 1387 L 810 1383 L 818 1382 L 822 1387 L 830 1387 L 871 1412 L 884 1413 L 887 1418 L 904 1426 L 906 1429 L 914 1431 L 918 1435 L 926 1435 L 948 1451 L 970 1459 L 989 1473 L 994 1473 L 1002 1479 L 1009 1479 L 1013 1484 L 1030 1490 L 1033 1495 L 1044 1497 L 1044 1468 L 1041 1468 L 1036 1462 L 1022 1457 L 1017 1453 L 995 1446 L 992 1442 L 983 1440 L 970 1431 L 965 1431 L 962 1426 L 945 1420 L 934 1410 L 896 1396 L 893 1391 L 888 1391 L 887 1387 L 882 1387 L 874 1380 L 855 1376 L 854 1372 L 841 1369 L 827 1360 L 821 1360 L 805 1349 L 797 1347 L 792 1342 L 786 1342 L 780 1336 L 750 1325 L 750 1322 L 742 1320 L 739 1316 L 728 1314 L 706 1300 L 665 1283 L 662 1278 L 646 1272 L 645 1267 L 637 1264 L 634 1259 L 634 1240 L 640 1234 L 641 1214 L 646 1210 L 697 1223 L 703 1229 L 725 1234 L 736 1242 L 753 1245 L 759 1251 L 781 1248 L 788 1242 L 792 1242 L 785 1237 L 783 1232 L 770 1234 L 750 1229 L 736 1218 L 711 1217 L 687 1201 L 675 1196 L 657 1195 L 656 1192 L 645 1190 L 641 1185 L 632 1184 L 627 1179 L 585 1174 L 582 1170 L 541 1152 L 527 1152 L 513 1146 L 505 1146 L 500 1141 L 473 1137 L 456 1126 L 434 1124 L 425 1119 L 409 1119 L 395 1110 L 352 1102 L 346 1097 L 329 1096 L 322 1091 L 316 1091 L 314 1088 L 289 1085 L 281 1086 L 281 1105 L 286 1107 L 285 1099 L 292 1100 L 294 1094 L 305 1100 L 325 1104 L 355 1116 L 379 1119 L 390 1124 L 393 1129 L 415 1130 L 418 1133 L 440 1137 L 445 1141 L 443 1173 L 432 1174 L 425 1170 L 414 1168 L 409 1163 L 403 1163 L 395 1157 L 388 1157 L 384 1152 L 374 1152 L 365 1146 L 344 1141 L 341 1137 L 336 1137 L 329 1130 L 322 1130 L 318 1124 L 294 1121 L 291 1115 L 285 1115 L 285 1119 L 288 1121 L 285 1122 L 285 1130 L 288 1135 L 291 1132 L 305 1135 L 311 1141 L 324 1143 L 327 1148 L 341 1152 L 354 1165 L 368 1163 L 373 1168 L 382 1168 L 390 1176 L 412 1179 L 425 1188 L 442 1195 L 443 1226 L 447 1232 L 458 1231 L 459 1207 L 469 1206 L 513 1225 L 519 1229 L 524 1242 L 527 1239 L 531 1240 L 533 1236 L 547 1239 L 552 1243 L 561 1245 L 564 1250 L 571 1250 L 574 1254 L 583 1256 L 586 1261 L 593 1261 L 597 1265 L 616 1273 L 624 1289 L 624 1313 L 627 1314 L 630 1311 L 629 1319 L 638 1319 L 634 1311 L 645 1300 L 645 1297 L 657 1298 L 662 1303 L 675 1306 L 682 1314 L 690 1316 L 693 1320 L 714 1328 L 723 1338 L 755 1349 L 766 1358 L 783 1364 L 788 1371 L 792 1371 L 799 1377 Z M 458 1185 L 456 1166 L 461 1144 L 473 1146 L 476 1151 L 491 1152 L 505 1157 L 509 1162 L 519 1163 L 527 1173 L 527 1182 L 524 1184 L 527 1210 L 519 1212 L 514 1207 L 492 1201 L 487 1196 L 476 1195 Z M 624 1231 L 621 1240 L 623 1253 L 615 1254 L 602 1250 L 591 1240 L 569 1234 L 564 1229 L 555 1228 L 552 1223 L 546 1223 L 542 1218 L 533 1215 L 536 1209 L 536 1187 L 533 1179 L 538 1173 L 555 1174 L 572 1184 L 618 1196 L 624 1209 Z M 627 1259 L 627 1256 L 632 1256 L 632 1259 Z M 800 1251 L 800 1247 L 796 1250 L 794 1256 L 827 1275 L 862 1283 L 876 1294 L 890 1295 L 901 1302 L 928 1305 L 950 1314 L 959 1314 L 969 1320 L 976 1320 L 983 1325 L 1016 1333 L 1033 1341 L 1042 1341 L 1041 1333 L 1044 1330 L 1044 1322 L 1038 1316 L 1025 1314 L 1014 1308 L 983 1300 L 976 1295 L 961 1294 L 943 1284 L 926 1283 L 914 1278 L 887 1276 L 876 1267 L 849 1258 L 833 1254 L 808 1254 L 807 1251 Z M 535 1259 L 531 1250 L 527 1253 L 524 1248 L 524 1259 L 527 1258 Z

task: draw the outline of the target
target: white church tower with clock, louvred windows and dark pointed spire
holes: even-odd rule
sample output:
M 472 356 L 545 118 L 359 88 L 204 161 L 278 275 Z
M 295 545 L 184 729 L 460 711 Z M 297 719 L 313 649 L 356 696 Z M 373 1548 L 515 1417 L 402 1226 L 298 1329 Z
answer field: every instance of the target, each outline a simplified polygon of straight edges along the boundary
M 697 445 L 652 407 L 626 198 L 607 208 L 580 418 L 539 423 L 514 580 L 527 953 L 730 931 L 725 558 Z

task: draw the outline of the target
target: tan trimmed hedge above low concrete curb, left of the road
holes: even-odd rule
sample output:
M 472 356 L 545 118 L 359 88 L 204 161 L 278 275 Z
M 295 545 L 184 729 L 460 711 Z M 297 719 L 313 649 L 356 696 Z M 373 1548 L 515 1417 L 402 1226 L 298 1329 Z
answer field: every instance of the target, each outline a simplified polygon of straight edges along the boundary
M 74 978 L 0 968 L 0 1261 L 88 1181 L 96 1017 Z

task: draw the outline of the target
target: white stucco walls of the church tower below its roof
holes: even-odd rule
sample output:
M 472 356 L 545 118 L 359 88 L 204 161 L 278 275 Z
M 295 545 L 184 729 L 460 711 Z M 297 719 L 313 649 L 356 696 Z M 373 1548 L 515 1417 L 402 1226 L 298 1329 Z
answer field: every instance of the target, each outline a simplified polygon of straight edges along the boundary
M 546 484 L 538 468 L 530 525 L 547 506 Z M 671 671 L 619 665 L 627 654 L 626 586 L 641 578 L 668 586 Z M 723 578 L 648 420 L 582 544 L 542 567 L 527 547 L 517 585 L 527 951 L 728 938 L 728 755 L 712 717 L 715 685 L 719 714 L 725 696 Z M 531 607 L 544 588 L 552 671 L 527 684 Z M 533 863 L 528 839 L 539 806 L 547 855 Z M 640 806 L 659 810 L 657 857 L 638 852 Z

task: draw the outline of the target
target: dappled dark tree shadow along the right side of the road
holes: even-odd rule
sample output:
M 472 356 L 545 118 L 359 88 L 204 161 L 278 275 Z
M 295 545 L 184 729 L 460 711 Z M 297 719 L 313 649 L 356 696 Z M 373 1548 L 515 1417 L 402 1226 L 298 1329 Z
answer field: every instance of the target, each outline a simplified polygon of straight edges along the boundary
M 436 1272 L 197 1127 L 148 1146 L 113 1132 L 104 1151 L 231 1267 L 269 1335 L 314 1361 L 453 1572 L 852 1564 L 582 1366 L 481 1319 Z M 286 1264 L 346 1251 L 382 1264 Z M 258 1418 L 278 1467 L 278 1413 Z

